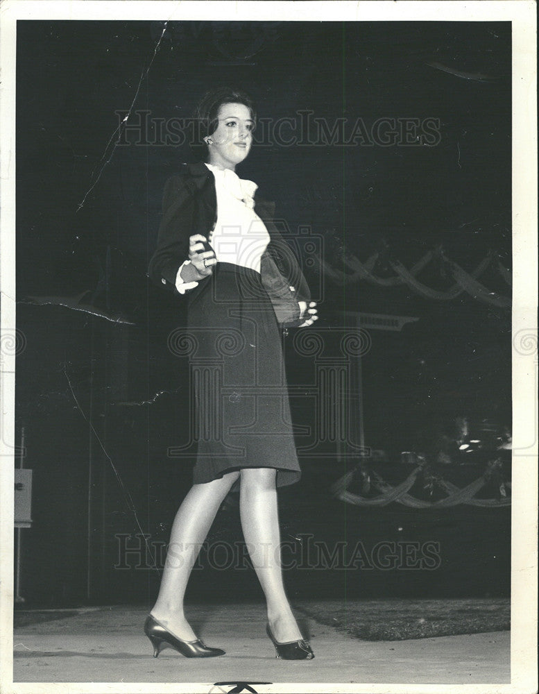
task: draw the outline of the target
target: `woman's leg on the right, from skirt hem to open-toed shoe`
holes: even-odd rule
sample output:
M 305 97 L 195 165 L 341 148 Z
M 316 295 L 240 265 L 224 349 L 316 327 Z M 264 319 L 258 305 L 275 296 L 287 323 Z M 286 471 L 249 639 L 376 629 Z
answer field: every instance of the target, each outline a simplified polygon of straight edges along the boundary
M 273 468 L 241 470 L 241 527 L 253 567 L 266 595 L 268 621 L 273 636 L 281 642 L 297 641 L 302 635 L 282 582 L 276 474 Z

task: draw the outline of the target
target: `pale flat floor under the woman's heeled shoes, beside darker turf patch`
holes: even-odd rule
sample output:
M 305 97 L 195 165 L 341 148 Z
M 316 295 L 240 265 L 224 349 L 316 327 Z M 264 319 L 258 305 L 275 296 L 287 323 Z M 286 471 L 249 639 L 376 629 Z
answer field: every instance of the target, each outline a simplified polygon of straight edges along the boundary
M 402 601 L 403 603 L 406 601 Z M 417 601 L 414 601 L 417 602 Z M 447 600 L 440 603 L 446 604 Z M 307 607 L 307 604 L 305 604 Z M 46 619 L 46 613 L 44 618 Z M 143 607 L 87 607 L 22 620 L 14 635 L 15 682 L 294 682 L 357 684 L 506 684 L 510 632 L 364 641 L 296 610 L 315 653 L 275 659 L 262 603 L 187 608 L 191 625 L 219 658 L 187 659 L 165 650 L 153 659 Z M 41 616 L 41 615 L 40 615 Z M 255 687 L 256 688 L 256 687 Z M 308 688 L 305 690 L 308 691 Z

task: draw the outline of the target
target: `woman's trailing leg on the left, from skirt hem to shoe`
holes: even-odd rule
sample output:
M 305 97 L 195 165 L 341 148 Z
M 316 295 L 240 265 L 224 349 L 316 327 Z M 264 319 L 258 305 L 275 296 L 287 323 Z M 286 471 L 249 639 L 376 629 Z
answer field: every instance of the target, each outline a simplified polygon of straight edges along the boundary
M 212 482 L 194 484 L 174 518 L 159 595 L 151 614 L 184 641 L 197 638 L 183 611 L 189 575 L 215 515 L 238 477 L 239 472 L 231 472 Z

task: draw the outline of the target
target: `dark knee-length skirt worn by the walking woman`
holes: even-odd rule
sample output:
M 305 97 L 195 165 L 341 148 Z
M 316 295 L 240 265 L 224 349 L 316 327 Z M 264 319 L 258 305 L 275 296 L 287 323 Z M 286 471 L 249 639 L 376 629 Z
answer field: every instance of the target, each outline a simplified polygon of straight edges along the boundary
M 193 481 L 264 467 L 277 470 L 277 486 L 293 484 L 301 471 L 281 333 L 260 274 L 221 262 L 203 283 L 187 322 L 196 346 L 190 356 L 198 443 Z

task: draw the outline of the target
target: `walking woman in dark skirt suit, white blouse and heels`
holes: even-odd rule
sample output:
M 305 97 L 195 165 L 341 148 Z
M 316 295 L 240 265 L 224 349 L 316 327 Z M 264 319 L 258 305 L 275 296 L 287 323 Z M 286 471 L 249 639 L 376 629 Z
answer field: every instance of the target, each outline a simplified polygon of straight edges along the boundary
M 280 566 L 276 488 L 301 473 L 276 311 L 287 311 L 290 325 L 312 325 L 318 315 L 270 219 L 271 205 L 255 203 L 257 185 L 235 173 L 250 151 L 255 117 L 243 92 L 223 87 L 206 94 L 197 119 L 207 161 L 184 164 L 167 181 L 149 267 L 155 282 L 189 302 L 198 441 L 194 485 L 173 523 L 159 595 L 146 620 L 154 657 L 166 646 L 187 657 L 224 653 L 196 637 L 183 600 L 216 511 L 238 488 L 243 536 L 266 596 L 266 630 L 276 657 L 314 657 L 286 598 Z M 288 266 L 284 277 L 275 255 Z

